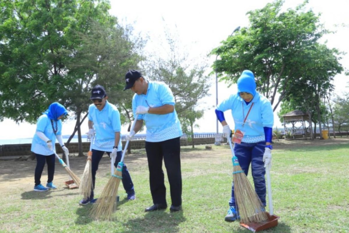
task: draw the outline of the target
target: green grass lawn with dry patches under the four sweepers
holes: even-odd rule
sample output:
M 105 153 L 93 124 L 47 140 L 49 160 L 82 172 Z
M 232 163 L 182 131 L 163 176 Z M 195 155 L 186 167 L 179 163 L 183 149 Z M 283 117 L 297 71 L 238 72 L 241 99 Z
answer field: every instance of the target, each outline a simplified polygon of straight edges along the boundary
M 271 176 L 274 214 L 280 219 L 277 227 L 265 232 L 349 232 L 348 142 L 275 143 Z M 183 211 L 175 213 L 169 209 L 144 212 L 152 204 L 145 152 L 128 155 L 136 200 L 126 201 L 120 184 L 113 221 L 91 219 L 91 206 L 79 206 L 78 190 L 66 189 L 62 182 L 55 180 L 57 190 L 32 191 L 35 161 L 23 163 L 28 167 L 25 172 L 16 162 L 0 161 L 0 168 L 13 166 L 12 176 L 0 171 L 0 232 L 250 232 L 238 223 L 224 221 L 232 181 L 229 146 L 204 148 L 182 148 Z M 81 176 L 85 158 L 74 162 L 79 162 L 76 174 Z M 55 176 L 64 180 L 64 169 L 59 166 L 57 163 Z M 106 165 L 97 171 L 96 197 L 109 179 L 109 170 Z M 42 181 L 46 177 L 43 174 Z M 252 182 L 250 174 L 248 177 Z M 30 182 L 21 183 L 21 179 Z M 170 205 L 167 177 L 165 180 Z

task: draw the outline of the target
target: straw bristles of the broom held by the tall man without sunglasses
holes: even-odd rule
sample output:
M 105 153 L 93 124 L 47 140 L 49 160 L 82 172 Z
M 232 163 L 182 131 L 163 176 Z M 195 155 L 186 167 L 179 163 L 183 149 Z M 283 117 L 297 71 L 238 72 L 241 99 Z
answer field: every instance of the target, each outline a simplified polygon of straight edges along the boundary
M 114 175 L 121 177 L 121 172 L 116 170 Z M 118 195 L 118 189 L 121 179 L 112 176 L 108 183 L 105 185 L 101 196 L 97 199 L 97 202 L 92 207 L 90 216 L 96 219 L 110 220 L 113 212 L 116 210 L 116 197 Z

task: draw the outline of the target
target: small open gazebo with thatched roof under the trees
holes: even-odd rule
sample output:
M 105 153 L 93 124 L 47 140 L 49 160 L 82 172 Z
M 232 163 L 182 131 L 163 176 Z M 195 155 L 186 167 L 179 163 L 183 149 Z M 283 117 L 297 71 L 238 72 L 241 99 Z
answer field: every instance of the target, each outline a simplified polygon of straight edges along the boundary
M 285 134 L 291 132 L 294 134 L 303 134 L 303 137 L 311 135 L 309 115 L 300 111 L 294 110 L 282 116 L 284 119 Z M 306 123 L 308 123 L 306 125 Z

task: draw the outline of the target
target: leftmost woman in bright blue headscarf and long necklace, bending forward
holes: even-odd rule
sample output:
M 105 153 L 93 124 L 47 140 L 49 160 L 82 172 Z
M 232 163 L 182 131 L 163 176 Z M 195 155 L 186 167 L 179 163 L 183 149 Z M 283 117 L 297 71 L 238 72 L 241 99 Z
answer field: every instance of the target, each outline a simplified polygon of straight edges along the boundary
M 31 151 L 36 156 L 35 185 L 34 191 L 47 191 L 55 189 L 52 183 L 55 163 L 55 141 L 56 138 L 65 154 L 69 154 L 68 148 L 64 145 L 62 139 L 62 121 L 61 118 L 68 112 L 60 103 L 52 103 L 49 108 L 38 118 L 36 124 L 36 133 L 31 144 Z M 47 183 L 44 187 L 41 182 L 41 174 L 47 163 Z

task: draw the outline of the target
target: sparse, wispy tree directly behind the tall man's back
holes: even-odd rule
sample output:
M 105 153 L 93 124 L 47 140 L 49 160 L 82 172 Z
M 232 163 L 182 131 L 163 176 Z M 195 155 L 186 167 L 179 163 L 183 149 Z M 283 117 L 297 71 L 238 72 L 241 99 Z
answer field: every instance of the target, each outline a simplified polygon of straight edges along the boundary
M 182 129 L 193 137 L 194 123 L 203 116 L 202 108 L 197 110 L 199 101 L 209 95 L 209 77 L 204 75 L 206 65 L 191 65 L 192 62 L 187 55 L 180 53 L 178 41 L 173 38 L 166 34 L 168 56 L 149 56 L 153 59 L 147 61 L 146 71 L 150 79 L 169 85 Z

